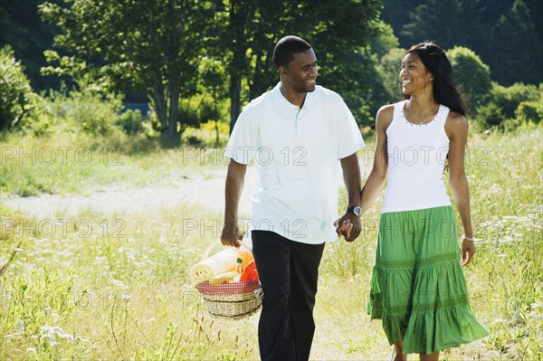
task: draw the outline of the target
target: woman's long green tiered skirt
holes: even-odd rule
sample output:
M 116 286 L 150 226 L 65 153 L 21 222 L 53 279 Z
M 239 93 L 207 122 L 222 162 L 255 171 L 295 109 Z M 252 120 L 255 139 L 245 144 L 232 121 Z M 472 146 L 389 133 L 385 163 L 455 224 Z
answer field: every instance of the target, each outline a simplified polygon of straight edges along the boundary
M 390 345 L 431 354 L 488 336 L 470 308 L 452 206 L 381 214 L 368 313 Z

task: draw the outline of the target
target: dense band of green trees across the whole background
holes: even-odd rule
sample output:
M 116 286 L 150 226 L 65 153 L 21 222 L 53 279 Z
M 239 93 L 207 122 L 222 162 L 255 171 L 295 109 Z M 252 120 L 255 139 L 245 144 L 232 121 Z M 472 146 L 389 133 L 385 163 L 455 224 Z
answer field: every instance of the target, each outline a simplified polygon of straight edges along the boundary
M 537 107 L 519 109 L 520 103 L 543 97 L 538 85 L 543 16 L 535 4 L 18 0 L 0 5 L 0 44 L 11 44 L 10 62 L 26 65 L 35 91 L 65 84 L 65 95 L 72 88 L 73 94 L 90 91 L 91 102 L 136 95 L 152 109 L 147 129 L 163 144 L 177 145 L 183 137 L 201 142 L 186 130 L 206 123 L 217 132 L 224 125 L 232 128 L 243 106 L 275 85 L 271 52 L 285 34 L 300 34 L 313 44 L 319 83 L 347 101 L 363 129 L 373 127 L 377 109 L 400 98 L 405 49 L 433 39 L 449 54 L 478 129 L 510 129 L 540 120 Z M 13 107 L 9 104 L 3 106 Z M 142 131 L 136 125 L 142 118 L 124 117 L 109 124 Z M 38 119 L 32 127 L 41 133 L 54 123 L 51 117 Z

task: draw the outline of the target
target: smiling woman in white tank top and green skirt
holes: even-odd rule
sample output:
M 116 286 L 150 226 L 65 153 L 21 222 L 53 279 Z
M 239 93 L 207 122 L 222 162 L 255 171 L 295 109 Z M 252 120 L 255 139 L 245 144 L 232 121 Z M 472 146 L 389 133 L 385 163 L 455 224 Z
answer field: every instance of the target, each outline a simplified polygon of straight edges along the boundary
M 362 189 L 367 210 L 387 180 L 368 312 L 382 318 L 394 360 L 411 353 L 437 360 L 441 350 L 488 335 L 469 306 L 461 267 L 475 253 L 464 171 L 468 124 L 438 45 L 409 49 L 400 76 L 404 100 L 377 112 L 376 157 Z M 462 219 L 462 261 L 443 167 Z M 343 223 L 342 233 L 350 227 Z

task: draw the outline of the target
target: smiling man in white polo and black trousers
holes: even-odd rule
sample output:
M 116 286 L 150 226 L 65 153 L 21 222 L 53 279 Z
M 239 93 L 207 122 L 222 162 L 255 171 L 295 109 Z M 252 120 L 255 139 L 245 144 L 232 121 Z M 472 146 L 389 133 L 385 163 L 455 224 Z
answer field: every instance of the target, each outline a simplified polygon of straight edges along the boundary
M 252 251 L 264 296 L 258 336 L 262 360 L 308 360 L 315 331 L 313 307 L 324 242 L 338 236 L 338 159 L 360 233 L 360 169 L 364 141 L 337 93 L 316 85 L 317 58 L 297 36 L 273 51 L 281 82 L 243 109 L 233 128 L 225 186 L 224 245 L 239 246 L 238 203 L 247 163 L 259 176 L 252 195 Z

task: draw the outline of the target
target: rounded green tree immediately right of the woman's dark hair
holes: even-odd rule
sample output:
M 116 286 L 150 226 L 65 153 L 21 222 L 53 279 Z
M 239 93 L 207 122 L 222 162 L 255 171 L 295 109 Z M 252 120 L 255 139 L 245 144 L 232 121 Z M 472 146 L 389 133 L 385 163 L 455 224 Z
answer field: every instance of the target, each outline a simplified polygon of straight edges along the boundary
M 454 82 L 462 85 L 468 94 L 470 105 L 477 109 L 491 96 L 491 71 L 471 49 L 455 46 L 447 52 L 452 64 Z

